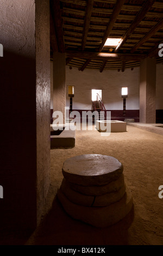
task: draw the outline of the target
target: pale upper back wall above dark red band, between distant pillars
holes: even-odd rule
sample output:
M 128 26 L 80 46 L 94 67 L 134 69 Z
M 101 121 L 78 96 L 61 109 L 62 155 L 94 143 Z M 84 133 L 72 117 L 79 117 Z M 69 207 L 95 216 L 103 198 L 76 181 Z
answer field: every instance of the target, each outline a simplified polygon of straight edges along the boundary
M 69 69 L 66 66 L 66 89 L 74 86 L 73 109 L 91 109 L 91 89 L 102 89 L 102 100 L 109 110 L 123 109 L 121 88 L 128 87 L 127 109 L 139 109 L 139 68 L 124 72 L 117 70 Z M 66 92 L 66 105 L 69 105 Z

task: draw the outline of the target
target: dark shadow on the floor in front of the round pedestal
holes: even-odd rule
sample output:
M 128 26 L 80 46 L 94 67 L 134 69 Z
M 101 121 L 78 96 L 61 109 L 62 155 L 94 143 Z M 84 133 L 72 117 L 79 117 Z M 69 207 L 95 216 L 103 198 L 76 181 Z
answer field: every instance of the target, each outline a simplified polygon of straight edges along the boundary
M 128 245 L 128 228 L 134 219 L 134 206 L 120 222 L 96 228 L 68 216 L 57 196 L 40 227 L 34 245 Z

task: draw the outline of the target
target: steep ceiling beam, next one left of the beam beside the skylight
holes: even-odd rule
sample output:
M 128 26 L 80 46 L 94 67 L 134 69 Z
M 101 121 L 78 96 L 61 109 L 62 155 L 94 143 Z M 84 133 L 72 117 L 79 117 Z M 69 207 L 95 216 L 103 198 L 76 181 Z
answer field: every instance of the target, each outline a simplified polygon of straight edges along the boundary
M 85 23 L 84 23 L 84 30 L 83 30 L 83 39 L 82 39 L 82 51 L 84 51 L 85 45 L 86 45 L 86 38 L 87 38 L 87 33 L 89 32 L 94 0 L 88 0 L 87 2 L 88 3 L 86 7 L 86 16 L 85 16 Z

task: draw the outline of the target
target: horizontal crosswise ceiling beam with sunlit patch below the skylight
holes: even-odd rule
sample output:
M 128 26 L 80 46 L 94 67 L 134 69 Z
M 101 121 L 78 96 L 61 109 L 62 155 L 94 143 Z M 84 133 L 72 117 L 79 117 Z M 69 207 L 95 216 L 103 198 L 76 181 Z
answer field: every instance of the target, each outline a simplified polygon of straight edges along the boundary
M 81 59 L 119 59 L 119 60 L 140 60 L 146 58 L 146 54 L 108 53 L 108 52 L 82 52 L 66 51 L 66 57 Z

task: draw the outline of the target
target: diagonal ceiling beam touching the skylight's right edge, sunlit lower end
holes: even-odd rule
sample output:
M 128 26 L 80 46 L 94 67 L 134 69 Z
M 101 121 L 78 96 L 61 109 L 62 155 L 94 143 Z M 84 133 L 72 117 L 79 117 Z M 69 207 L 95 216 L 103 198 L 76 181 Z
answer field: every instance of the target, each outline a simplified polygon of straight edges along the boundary
M 129 38 L 129 36 L 134 32 L 135 28 L 139 25 L 139 23 L 142 21 L 142 19 L 145 17 L 145 15 L 148 13 L 149 9 L 152 7 L 154 2 L 156 2 L 156 0 L 148 0 L 148 1 L 146 1 L 146 3 L 144 4 L 142 10 L 136 16 L 135 20 L 131 23 L 131 26 L 128 28 L 126 34 L 123 36 L 122 41 L 115 48 L 115 51 L 114 51 L 115 53 L 117 53 L 118 50 L 120 50 L 120 48 L 122 47 L 124 42 L 126 42 L 127 39 Z

